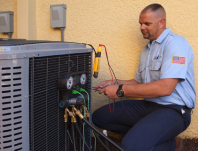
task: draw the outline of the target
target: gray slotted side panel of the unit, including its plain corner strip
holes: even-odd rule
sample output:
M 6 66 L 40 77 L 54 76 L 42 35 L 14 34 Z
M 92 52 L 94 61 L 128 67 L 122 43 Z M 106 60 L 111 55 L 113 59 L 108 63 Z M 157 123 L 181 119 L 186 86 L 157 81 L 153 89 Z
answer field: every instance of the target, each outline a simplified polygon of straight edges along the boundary
M 0 60 L 0 150 L 29 150 L 29 59 Z

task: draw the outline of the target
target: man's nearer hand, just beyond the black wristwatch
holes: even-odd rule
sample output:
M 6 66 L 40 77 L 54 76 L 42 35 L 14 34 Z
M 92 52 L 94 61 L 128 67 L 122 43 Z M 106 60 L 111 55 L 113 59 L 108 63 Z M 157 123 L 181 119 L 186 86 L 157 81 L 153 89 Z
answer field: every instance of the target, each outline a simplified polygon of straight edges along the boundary
M 119 85 L 109 85 L 104 87 L 103 89 L 101 89 L 99 91 L 99 93 L 104 93 L 104 95 L 107 95 L 110 99 L 117 99 L 118 96 L 116 94 L 117 90 L 118 90 L 118 86 Z

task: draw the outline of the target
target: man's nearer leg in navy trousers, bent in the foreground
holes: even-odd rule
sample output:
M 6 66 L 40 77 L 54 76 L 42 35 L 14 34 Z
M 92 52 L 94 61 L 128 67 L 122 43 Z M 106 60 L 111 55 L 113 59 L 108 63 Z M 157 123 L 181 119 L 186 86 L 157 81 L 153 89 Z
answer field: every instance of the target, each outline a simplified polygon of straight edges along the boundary
M 133 126 L 122 140 L 126 151 L 174 151 L 175 137 L 190 121 L 190 113 L 178 113 L 171 108 L 159 108 Z

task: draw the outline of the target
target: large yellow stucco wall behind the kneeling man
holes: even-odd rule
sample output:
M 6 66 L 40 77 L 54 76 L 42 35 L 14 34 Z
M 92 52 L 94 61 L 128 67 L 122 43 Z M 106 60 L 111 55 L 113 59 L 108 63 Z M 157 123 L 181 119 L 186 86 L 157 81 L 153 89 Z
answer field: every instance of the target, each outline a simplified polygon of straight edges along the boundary
M 15 0 L 13 0 L 12 6 L 14 3 Z M 198 62 L 196 61 L 198 59 L 197 0 L 37 0 L 37 39 L 61 39 L 60 30 L 50 28 L 50 5 L 67 4 L 65 41 L 90 43 L 96 49 L 98 44 L 105 44 L 116 77 L 132 79 L 135 77 L 140 52 L 147 43 L 139 30 L 139 13 L 151 3 L 160 3 L 164 6 L 167 12 L 167 27 L 184 36 L 191 44 L 195 53 L 195 75 L 198 77 Z M 3 8 L 4 6 L 0 5 L 0 11 L 5 10 Z M 13 6 L 13 8 L 15 7 Z M 103 50 L 99 77 L 93 78 L 93 85 L 110 78 Z M 197 82 L 198 78 L 196 78 L 198 92 Z M 93 92 L 93 110 L 108 104 L 108 101 L 109 99 L 104 95 Z M 198 103 L 196 105 L 198 107 Z M 197 125 L 198 109 L 196 108 L 193 111 L 190 127 L 181 136 L 198 138 Z

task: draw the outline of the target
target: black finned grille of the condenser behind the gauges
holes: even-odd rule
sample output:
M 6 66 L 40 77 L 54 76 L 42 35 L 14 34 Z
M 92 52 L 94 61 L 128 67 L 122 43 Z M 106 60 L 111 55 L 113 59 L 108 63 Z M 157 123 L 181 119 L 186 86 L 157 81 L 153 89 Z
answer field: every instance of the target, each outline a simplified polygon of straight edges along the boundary
M 61 95 L 57 88 L 57 81 L 60 75 L 79 71 L 87 74 L 85 89 L 90 93 L 91 53 L 30 59 L 30 150 L 65 150 L 64 109 L 58 107 Z M 69 127 L 68 132 L 70 129 Z M 87 142 L 90 143 L 88 128 L 85 134 L 88 136 Z M 70 140 L 67 144 L 69 150 L 72 150 Z

